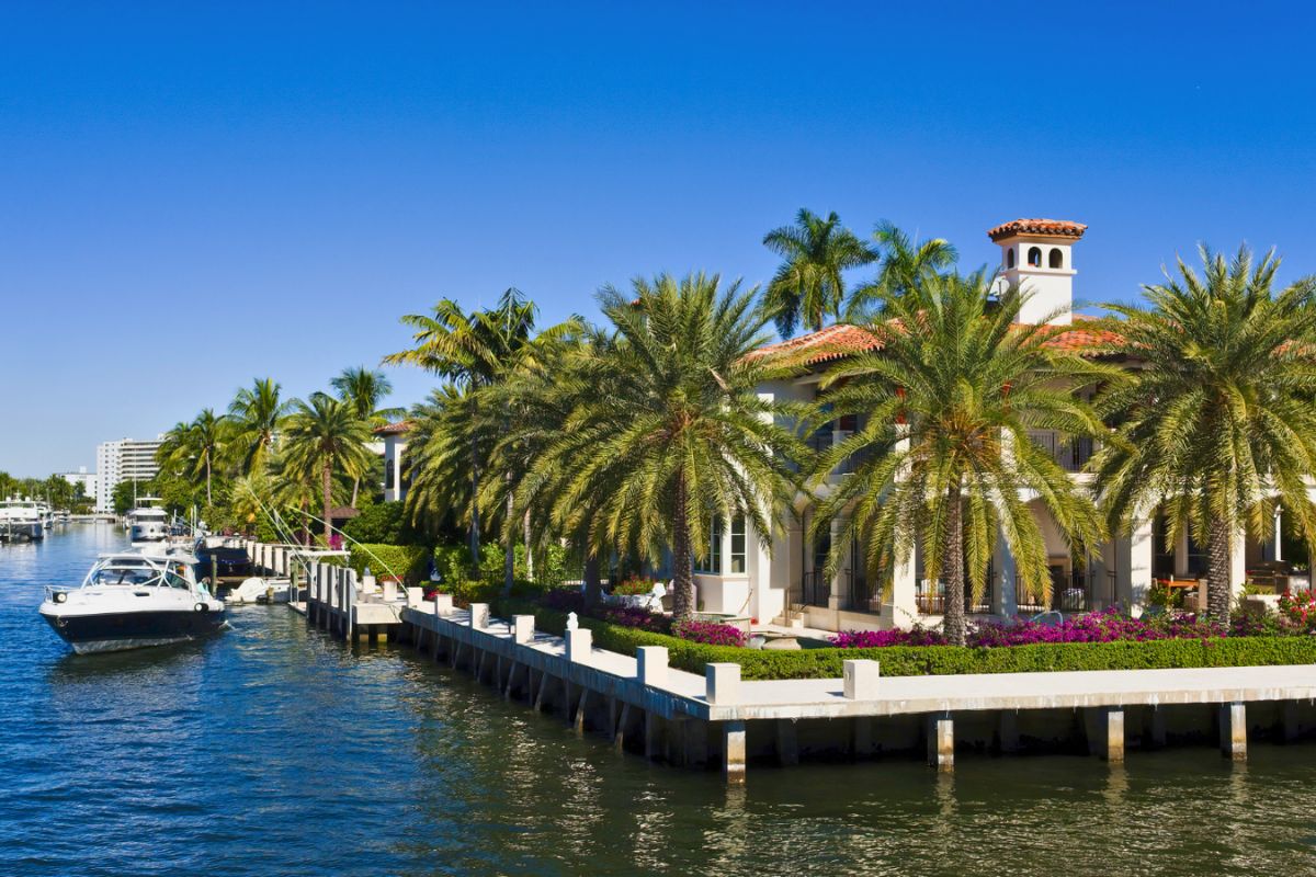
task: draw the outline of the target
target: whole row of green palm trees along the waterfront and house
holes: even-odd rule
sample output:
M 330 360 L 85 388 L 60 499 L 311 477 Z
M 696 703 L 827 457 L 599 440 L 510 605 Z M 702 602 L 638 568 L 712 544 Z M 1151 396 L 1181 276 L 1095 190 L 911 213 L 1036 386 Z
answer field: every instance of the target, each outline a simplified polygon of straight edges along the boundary
M 834 213 L 801 210 L 763 242 L 782 263 L 762 291 L 659 273 L 604 287 L 597 321 L 542 327 L 517 289 L 486 309 L 445 298 L 404 317 L 412 343 L 383 363 L 441 379 L 405 414 L 409 519 L 465 530 L 472 568 L 482 542 L 501 543 L 507 586 L 519 542 L 532 554 L 570 543 L 590 600 L 617 556 L 670 563 L 674 614 L 688 618 L 694 564 L 713 534 L 744 519 L 770 550 L 797 497 L 812 494 L 812 535 L 838 536 L 828 572 L 858 544 L 890 582 L 920 551 L 925 576 L 946 582 L 951 642 L 963 642 L 966 593 L 986 588 L 998 538 L 1019 581 L 1049 594 L 1030 502 L 1076 557 L 1163 511 L 1167 540 L 1187 530 L 1208 546 L 1219 617 L 1240 533 L 1265 535 L 1278 504 L 1316 538 L 1305 488 L 1316 473 L 1316 284 L 1279 288 L 1273 252 L 1203 247 L 1199 268 L 1179 262 L 1141 304 L 1084 321 L 1076 348 L 1065 342 L 1073 326 L 1020 323 L 1029 293 L 959 270 L 946 241 L 879 224 L 863 242 Z M 848 285 L 848 272 L 869 267 L 870 279 Z M 869 343 L 821 351 L 834 363 L 817 397 L 761 393 L 809 368 L 790 347 L 761 355 L 771 329 L 788 338 L 833 321 Z M 328 519 L 332 494 L 355 497 L 366 476 L 370 426 L 403 414 L 380 408 L 383 375 L 351 375 L 333 394 L 290 404 L 257 381 L 226 414 L 171 430 L 162 460 L 208 496 L 218 467 L 234 508 L 243 488 L 278 508 L 318 501 Z M 836 418 L 855 429 L 809 447 L 805 437 Z M 1091 485 L 1033 430 L 1099 440 Z M 842 463 L 850 473 L 836 480 Z

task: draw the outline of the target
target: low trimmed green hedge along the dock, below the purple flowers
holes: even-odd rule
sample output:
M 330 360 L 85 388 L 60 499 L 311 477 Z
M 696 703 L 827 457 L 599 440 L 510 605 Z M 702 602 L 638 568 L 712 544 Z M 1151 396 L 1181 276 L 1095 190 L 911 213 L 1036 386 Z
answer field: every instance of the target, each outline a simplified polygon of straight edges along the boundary
M 536 627 L 566 630 L 566 614 L 521 600 L 495 605 L 503 617 L 533 614 Z M 1038 643 L 999 648 L 959 646 L 886 646 L 882 648 L 805 648 L 797 652 L 703 646 L 675 636 L 580 618 L 599 648 L 634 655 L 637 646 L 666 646 L 671 667 L 703 673 L 711 663 L 741 665 L 741 678 L 840 678 L 848 659 L 882 663 L 883 676 L 954 676 L 963 673 L 1046 673 L 1054 671 L 1173 669 L 1194 667 L 1270 667 L 1316 664 L 1316 636 L 1234 636 L 1152 639 L 1115 643 Z

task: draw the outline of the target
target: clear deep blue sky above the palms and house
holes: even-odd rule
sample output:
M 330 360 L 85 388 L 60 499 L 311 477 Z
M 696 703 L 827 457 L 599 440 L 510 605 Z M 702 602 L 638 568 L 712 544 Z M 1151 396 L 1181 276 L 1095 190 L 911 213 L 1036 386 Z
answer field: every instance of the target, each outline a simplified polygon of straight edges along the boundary
M 926 9 L 926 12 L 924 11 Z M 1316 271 L 1304 4 L 7 3 L 0 469 L 286 392 L 516 285 L 547 321 L 796 209 L 1087 222 L 1076 295 L 1199 239 Z M 393 371 L 396 401 L 432 380 Z

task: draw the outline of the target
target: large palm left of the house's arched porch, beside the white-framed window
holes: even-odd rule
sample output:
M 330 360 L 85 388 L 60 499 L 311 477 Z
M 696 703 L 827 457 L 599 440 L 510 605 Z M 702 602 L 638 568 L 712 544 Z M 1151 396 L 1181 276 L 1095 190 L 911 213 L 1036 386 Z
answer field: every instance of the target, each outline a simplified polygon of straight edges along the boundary
M 754 293 L 703 273 L 636 279 L 629 295 L 605 287 L 599 302 L 616 338 L 575 367 L 591 392 L 578 393 L 534 464 L 565 533 L 642 560 L 670 546 L 676 619 L 694 613 L 692 565 L 708 552 L 709 523 L 744 515 L 771 548 L 795 494 L 800 442 L 776 423 L 782 404 L 758 393 L 790 371 L 747 356 L 767 341 Z

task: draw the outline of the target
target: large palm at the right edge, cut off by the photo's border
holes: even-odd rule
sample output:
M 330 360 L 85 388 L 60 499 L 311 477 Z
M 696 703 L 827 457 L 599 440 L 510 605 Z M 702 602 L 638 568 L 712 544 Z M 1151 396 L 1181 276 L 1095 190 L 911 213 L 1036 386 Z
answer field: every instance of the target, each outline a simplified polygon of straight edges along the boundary
M 1316 542 L 1304 480 L 1316 475 L 1316 279 L 1274 289 L 1274 251 L 1253 263 L 1200 247 L 1203 275 L 1144 287 L 1150 308 L 1107 305 L 1112 352 L 1146 363 L 1104 396 L 1117 438 L 1094 460 L 1112 525 L 1163 508 L 1173 540 L 1187 527 L 1207 544 L 1209 614 L 1229 615 L 1232 543 L 1265 534 L 1274 502 Z

